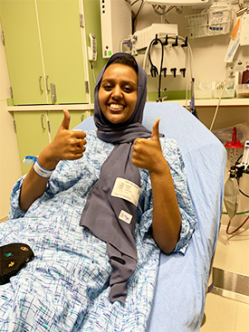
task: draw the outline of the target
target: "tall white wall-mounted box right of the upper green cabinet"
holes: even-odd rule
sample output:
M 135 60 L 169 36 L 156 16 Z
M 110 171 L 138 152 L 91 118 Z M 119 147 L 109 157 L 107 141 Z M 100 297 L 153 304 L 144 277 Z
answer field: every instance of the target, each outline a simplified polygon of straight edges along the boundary
M 102 57 L 120 52 L 120 43 L 131 34 L 131 6 L 124 0 L 100 0 Z

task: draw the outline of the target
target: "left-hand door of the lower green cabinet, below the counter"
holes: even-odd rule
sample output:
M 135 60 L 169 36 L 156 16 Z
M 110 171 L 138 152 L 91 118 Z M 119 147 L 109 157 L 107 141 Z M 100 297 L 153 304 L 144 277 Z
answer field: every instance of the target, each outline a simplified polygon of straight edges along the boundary
M 14 112 L 14 122 L 22 172 L 26 174 L 30 165 L 23 163 L 24 157 L 39 156 L 49 144 L 46 112 Z

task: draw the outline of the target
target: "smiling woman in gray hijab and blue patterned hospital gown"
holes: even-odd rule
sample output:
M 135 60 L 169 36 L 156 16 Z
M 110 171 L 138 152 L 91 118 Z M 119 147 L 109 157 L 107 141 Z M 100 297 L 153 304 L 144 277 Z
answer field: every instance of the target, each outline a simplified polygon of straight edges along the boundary
M 194 231 L 195 213 L 187 194 L 184 166 L 176 142 L 159 138 L 159 119 L 152 133 L 140 125 L 146 84 L 147 75 L 132 56 L 114 54 L 101 71 L 95 87 L 97 133 L 69 130 L 70 115 L 65 109 L 62 126 L 53 142 L 41 152 L 39 164 L 35 163 L 28 175 L 14 186 L 10 218 L 25 220 L 25 235 L 35 253 L 34 263 L 22 270 L 23 275 L 28 273 L 28 281 L 20 286 L 20 273 L 15 282 L 18 289 L 24 289 L 22 299 L 27 293 L 33 296 L 35 308 L 39 308 L 39 289 L 47 289 L 49 305 L 43 302 L 43 310 L 52 319 L 52 327 L 58 330 L 63 330 L 62 327 L 72 330 L 75 326 L 84 331 L 144 329 L 153 299 L 158 248 L 165 252 L 185 252 Z M 128 199 L 113 193 L 117 178 L 129 181 L 132 188 L 139 187 L 139 194 L 134 194 L 130 187 Z M 124 222 L 116 208 L 119 211 L 121 208 L 130 220 Z M 107 235 L 113 232 L 113 224 L 107 229 L 109 221 L 106 223 L 106 218 L 102 217 L 105 213 L 126 232 L 124 246 L 116 248 L 115 243 L 113 246 L 103 238 L 102 230 L 107 231 Z M 92 223 L 95 225 L 91 229 Z M 54 241 L 50 239 L 48 243 L 43 238 L 43 229 L 41 239 L 39 236 L 34 239 L 34 232 L 37 234 L 43 224 L 47 232 L 55 233 Z M 120 236 L 119 230 L 117 234 Z M 117 247 L 122 240 L 119 237 Z M 79 260 L 83 257 L 84 261 L 82 266 L 72 260 L 72 266 L 66 268 L 69 275 L 66 273 L 63 282 L 69 286 L 64 299 L 65 289 L 58 290 L 62 280 L 57 278 L 60 273 L 65 278 L 62 272 L 65 267 L 60 263 L 63 257 L 58 256 L 56 250 L 52 254 L 47 249 L 61 245 L 66 255 L 71 243 Z M 132 250 L 129 251 L 127 243 Z M 53 269 L 50 268 L 52 262 Z M 126 267 L 127 270 L 122 270 Z M 119 269 L 125 274 L 121 280 L 116 273 Z M 37 278 L 37 270 L 45 283 L 42 277 Z M 118 289 L 117 284 L 121 284 Z M 71 290 L 76 287 L 75 298 Z M 112 293 L 111 289 L 114 289 Z M 12 294 L 11 289 L 5 290 L 8 290 L 5 299 L 11 303 L 14 291 Z M 6 308 L 5 300 L 0 299 L 3 301 L 0 300 L 0 305 Z M 54 314 L 53 308 L 60 303 L 64 303 L 62 312 Z M 23 324 L 27 330 L 40 324 L 21 302 L 18 306 L 18 315 L 15 311 L 18 324 Z M 8 309 L 11 312 L 12 308 Z M 8 317 L 6 313 L 5 317 Z

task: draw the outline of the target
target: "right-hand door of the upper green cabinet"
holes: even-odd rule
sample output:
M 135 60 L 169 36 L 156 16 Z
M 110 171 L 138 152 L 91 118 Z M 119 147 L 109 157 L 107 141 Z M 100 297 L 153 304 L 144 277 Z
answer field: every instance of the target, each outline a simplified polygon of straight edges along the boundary
M 44 68 L 48 87 L 55 84 L 55 102 L 86 103 L 79 0 L 37 0 L 37 8 Z

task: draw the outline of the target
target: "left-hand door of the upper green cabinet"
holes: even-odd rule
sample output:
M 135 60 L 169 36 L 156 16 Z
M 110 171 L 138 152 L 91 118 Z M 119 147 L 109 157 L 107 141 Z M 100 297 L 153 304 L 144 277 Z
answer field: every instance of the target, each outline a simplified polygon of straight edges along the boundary
M 0 0 L 0 16 L 14 105 L 45 104 L 34 1 Z

